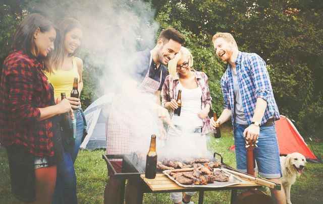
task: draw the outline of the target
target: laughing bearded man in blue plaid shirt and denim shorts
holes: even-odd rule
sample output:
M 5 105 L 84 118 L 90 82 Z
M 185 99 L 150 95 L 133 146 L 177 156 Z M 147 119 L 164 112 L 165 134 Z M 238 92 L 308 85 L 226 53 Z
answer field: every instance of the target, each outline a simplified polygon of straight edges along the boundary
M 231 117 L 237 169 L 247 172 L 245 139 L 258 141 L 254 158 L 258 173 L 276 183 L 282 176 L 275 120 L 279 111 L 264 60 L 255 53 L 238 50 L 230 33 L 217 33 L 212 38 L 217 55 L 228 62 L 221 78 L 224 111 L 217 121 L 210 120 L 212 128 Z M 275 203 L 286 203 L 284 190 L 272 190 Z

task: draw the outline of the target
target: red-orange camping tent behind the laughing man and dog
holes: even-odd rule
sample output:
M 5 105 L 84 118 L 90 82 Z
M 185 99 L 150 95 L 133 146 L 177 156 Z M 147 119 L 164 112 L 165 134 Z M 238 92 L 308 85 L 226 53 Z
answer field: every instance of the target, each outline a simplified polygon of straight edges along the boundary
M 275 121 L 275 124 L 280 155 L 298 152 L 304 155 L 307 160 L 317 161 L 290 119 L 281 115 L 280 120 Z M 230 150 L 234 150 L 234 146 Z

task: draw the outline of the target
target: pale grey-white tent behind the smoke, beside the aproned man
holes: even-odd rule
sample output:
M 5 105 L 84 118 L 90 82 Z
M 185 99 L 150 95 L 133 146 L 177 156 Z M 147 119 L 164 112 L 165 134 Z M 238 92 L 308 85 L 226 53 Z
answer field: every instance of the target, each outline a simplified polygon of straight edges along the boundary
M 88 133 L 80 148 L 87 150 L 106 148 L 105 122 L 113 96 L 114 93 L 105 94 L 85 109 Z

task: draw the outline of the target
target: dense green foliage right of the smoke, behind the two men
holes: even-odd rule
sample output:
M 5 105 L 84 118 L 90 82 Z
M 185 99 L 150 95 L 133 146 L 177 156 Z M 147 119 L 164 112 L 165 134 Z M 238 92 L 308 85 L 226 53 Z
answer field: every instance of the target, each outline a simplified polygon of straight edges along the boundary
M 220 78 L 226 69 L 212 51 L 211 36 L 230 32 L 241 51 L 267 63 L 280 113 L 309 135 L 323 135 L 323 26 L 319 1 L 149 1 L 161 28 L 182 31 L 196 69 L 210 80 L 216 110 L 221 108 Z M 206 68 L 207 67 L 207 68 Z M 310 117 L 310 115 L 312 117 Z M 315 119 L 314 119 L 315 118 Z M 303 133 L 303 132 L 302 132 Z

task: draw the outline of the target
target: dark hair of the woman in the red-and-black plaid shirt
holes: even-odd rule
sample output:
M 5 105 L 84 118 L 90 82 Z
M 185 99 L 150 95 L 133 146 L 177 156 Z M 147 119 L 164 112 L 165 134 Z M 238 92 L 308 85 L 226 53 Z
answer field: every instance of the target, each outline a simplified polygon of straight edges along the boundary
M 12 44 L 13 49 L 23 50 L 27 54 L 38 56 L 39 50 L 34 41 L 34 33 L 37 29 L 44 33 L 55 25 L 40 14 L 29 14 L 19 24 Z

